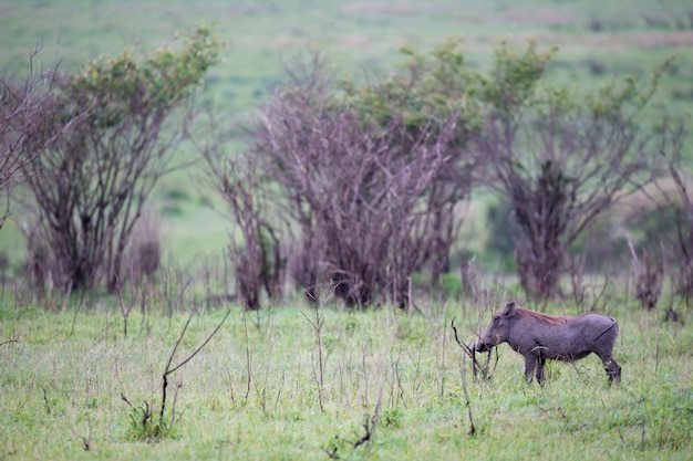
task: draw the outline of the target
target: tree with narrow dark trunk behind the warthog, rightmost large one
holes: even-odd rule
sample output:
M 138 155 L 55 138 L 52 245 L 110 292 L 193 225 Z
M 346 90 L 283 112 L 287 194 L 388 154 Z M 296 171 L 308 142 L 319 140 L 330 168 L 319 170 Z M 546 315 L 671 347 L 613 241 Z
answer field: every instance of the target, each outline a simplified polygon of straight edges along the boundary
M 567 249 L 588 223 L 658 174 L 660 138 L 645 133 L 639 117 L 662 70 L 645 91 L 627 80 L 583 96 L 545 84 L 550 55 L 532 46 L 519 59 L 501 49 L 496 59 L 475 147 L 487 160 L 490 186 L 513 203 L 520 282 L 546 300 L 557 294 Z

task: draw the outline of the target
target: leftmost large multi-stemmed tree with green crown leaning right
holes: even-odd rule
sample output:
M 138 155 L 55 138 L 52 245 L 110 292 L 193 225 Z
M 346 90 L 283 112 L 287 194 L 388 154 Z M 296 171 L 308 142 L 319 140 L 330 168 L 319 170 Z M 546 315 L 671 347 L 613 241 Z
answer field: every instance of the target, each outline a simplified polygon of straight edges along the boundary
M 142 208 L 187 137 L 188 103 L 219 44 L 200 28 L 178 52 L 137 61 L 131 51 L 60 81 L 60 116 L 90 102 L 79 129 L 28 165 L 28 184 L 56 265 L 56 283 L 116 290 Z

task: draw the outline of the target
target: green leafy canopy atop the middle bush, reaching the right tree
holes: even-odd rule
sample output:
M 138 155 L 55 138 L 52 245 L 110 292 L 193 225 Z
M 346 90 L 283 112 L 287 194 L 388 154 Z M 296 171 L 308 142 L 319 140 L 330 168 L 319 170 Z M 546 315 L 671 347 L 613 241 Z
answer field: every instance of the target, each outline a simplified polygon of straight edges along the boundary
M 352 107 L 381 126 L 401 116 L 412 133 L 420 133 L 454 116 L 456 140 L 464 144 L 483 130 L 486 111 L 511 119 L 518 106 L 530 104 L 556 51 L 539 51 L 534 41 L 524 49 L 501 41 L 485 72 L 469 64 L 462 40 L 449 38 L 426 53 L 403 48 L 407 61 L 383 83 L 361 88 L 345 82 L 343 91 Z M 545 97 L 570 104 L 567 94 L 550 90 Z

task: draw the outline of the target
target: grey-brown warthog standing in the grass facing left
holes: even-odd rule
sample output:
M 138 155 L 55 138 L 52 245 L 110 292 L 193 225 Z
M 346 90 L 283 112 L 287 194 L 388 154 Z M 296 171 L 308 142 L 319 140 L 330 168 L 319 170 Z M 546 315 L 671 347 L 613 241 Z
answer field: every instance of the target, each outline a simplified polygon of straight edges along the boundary
M 476 344 L 476 352 L 486 352 L 500 343 L 525 356 L 525 378 L 544 381 L 546 359 L 575 362 L 594 353 L 604 364 L 611 383 L 621 380 L 621 366 L 613 359 L 612 349 L 619 335 L 619 324 L 600 314 L 576 317 L 554 316 L 506 304 L 494 315 L 486 333 Z

